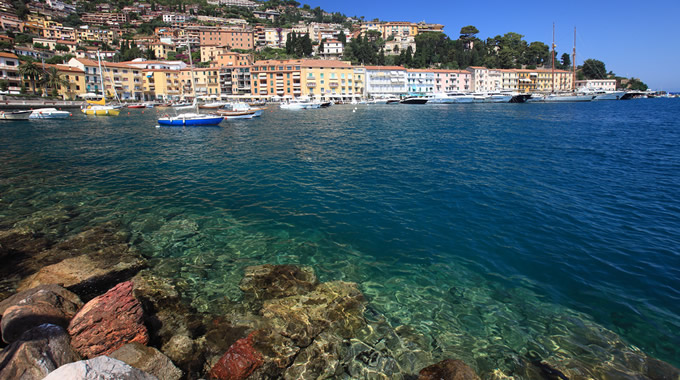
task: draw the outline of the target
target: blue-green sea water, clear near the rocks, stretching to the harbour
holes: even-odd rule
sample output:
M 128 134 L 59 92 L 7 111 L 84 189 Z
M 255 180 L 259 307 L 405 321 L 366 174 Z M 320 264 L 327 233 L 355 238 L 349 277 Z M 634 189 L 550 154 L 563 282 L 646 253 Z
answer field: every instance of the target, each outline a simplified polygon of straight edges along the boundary
M 201 310 L 245 266 L 312 265 L 483 373 L 601 362 L 598 326 L 680 365 L 679 101 L 353 108 L 2 124 L 0 224 L 122 221 Z

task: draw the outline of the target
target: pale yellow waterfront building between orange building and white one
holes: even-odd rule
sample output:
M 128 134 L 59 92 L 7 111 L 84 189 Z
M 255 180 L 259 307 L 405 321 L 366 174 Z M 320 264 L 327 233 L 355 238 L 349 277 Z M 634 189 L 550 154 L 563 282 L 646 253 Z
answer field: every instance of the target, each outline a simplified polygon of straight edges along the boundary
M 302 96 L 321 100 L 351 100 L 363 96 L 362 74 L 350 62 L 304 59 L 300 61 Z

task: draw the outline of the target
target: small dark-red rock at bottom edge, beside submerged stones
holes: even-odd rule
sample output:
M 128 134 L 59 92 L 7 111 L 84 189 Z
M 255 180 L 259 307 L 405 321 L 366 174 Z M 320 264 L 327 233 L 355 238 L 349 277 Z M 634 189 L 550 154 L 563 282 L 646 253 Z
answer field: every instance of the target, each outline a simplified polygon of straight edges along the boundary
M 239 339 L 210 370 L 210 378 L 242 380 L 263 364 L 262 354 L 253 348 L 253 333 Z

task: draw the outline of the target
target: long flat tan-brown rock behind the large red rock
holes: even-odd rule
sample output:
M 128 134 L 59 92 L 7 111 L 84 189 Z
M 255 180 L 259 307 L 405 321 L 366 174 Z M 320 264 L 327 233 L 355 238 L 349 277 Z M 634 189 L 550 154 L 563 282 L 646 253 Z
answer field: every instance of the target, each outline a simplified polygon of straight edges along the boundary
M 127 244 L 101 249 L 93 254 L 80 255 L 48 265 L 22 280 L 18 290 L 43 284 L 60 284 L 87 299 L 100 294 L 112 285 L 134 276 L 146 261 Z

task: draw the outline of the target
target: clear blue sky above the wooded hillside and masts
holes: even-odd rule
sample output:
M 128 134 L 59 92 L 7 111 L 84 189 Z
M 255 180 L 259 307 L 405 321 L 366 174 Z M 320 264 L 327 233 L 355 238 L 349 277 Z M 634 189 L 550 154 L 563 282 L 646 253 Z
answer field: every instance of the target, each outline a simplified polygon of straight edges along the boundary
M 550 46 L 554 22 L 558 57 L 571 55 L 576 28 L 577 64 L 598 59 L 607 71 L 640 78 L 653 90 L 680 91 L 679 0 L 298 1 L 366 20 L 443 24 L 454 39 L 461 27 L 474 25 L 483 40 L 515 32 Z

